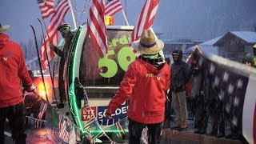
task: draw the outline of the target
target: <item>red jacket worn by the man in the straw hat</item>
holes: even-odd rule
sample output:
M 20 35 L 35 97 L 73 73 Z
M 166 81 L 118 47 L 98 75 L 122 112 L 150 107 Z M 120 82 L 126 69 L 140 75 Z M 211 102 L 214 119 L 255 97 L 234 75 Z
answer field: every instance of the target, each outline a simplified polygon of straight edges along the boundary
M 130 98 L 128 118 L 146 124 L 163 122 L 169 85 L 170 66 L 167 63 L 157 70 L 155 66 L 137 58 L 128 67 L 107 113 L 113 114 L 118 106 Z

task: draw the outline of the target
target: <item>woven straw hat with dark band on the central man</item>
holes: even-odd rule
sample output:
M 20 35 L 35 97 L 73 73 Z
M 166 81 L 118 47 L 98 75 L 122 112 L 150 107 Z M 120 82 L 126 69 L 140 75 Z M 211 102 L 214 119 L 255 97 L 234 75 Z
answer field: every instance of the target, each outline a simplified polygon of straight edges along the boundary
M 134 50 L 140 54 L 158 54 L 163 49 L 164 43 L 156 38 L 153 30 L 143 30 L 142 36 L 138 41 L 131 43 Z

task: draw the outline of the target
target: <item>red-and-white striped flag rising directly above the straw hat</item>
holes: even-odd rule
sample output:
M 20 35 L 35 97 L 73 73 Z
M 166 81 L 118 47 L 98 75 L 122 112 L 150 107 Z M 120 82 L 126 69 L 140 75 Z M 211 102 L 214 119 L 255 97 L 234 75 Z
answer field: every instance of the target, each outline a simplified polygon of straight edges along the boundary
M 131 34 L 131 42 L 141 38 L 143 30 L 149 30 L 154 22 L 155 14 L 158 10 L 159 0 L 146 0 L 142 12 L 138 17 L 136 26 Z M 136 53 L 136 50 L 133 50 Z

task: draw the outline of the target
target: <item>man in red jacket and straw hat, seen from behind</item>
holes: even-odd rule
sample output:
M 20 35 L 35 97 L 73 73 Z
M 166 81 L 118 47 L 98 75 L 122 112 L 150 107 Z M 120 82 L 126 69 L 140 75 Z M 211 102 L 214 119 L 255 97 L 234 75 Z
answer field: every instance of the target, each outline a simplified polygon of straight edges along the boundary
M 106 118 L 111 118 L 118 106 L 130 98 L 127 114 L 129 143 L 139 144 L 142 130 L 146 127 L 149 143 L 159 142 L 166 92 L 170 85 L 170 66 L 159 54 L 163 46 L 153 30 L 144 30 L 140 40 L 132 43 L 134 50 L 142 55 L 130 63 L 106 110 Z

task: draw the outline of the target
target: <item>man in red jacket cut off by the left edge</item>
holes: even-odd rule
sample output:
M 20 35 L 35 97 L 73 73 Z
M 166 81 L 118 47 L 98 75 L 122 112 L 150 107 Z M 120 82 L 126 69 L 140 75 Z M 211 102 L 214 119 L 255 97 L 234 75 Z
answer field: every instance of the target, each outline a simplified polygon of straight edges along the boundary
M 9 26 L 0 24 L 0 143 L 4 143 L 4 126 L 9 120 L 14 143 L 26 143 L 26 114 L 23 103 L 22 86 L 26 91 L 36 94 L 30 74 L 26 69 L 25 58 L 21 46 L 2 34 Z

